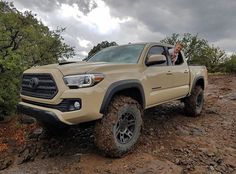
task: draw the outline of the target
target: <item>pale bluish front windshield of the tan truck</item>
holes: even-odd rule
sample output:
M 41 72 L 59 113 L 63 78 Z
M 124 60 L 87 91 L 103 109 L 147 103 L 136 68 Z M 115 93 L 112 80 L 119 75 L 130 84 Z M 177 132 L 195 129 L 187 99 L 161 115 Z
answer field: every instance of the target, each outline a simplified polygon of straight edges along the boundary
M 109 47 L 92 56 L 88 62 L 137 63 L 144 44 Z

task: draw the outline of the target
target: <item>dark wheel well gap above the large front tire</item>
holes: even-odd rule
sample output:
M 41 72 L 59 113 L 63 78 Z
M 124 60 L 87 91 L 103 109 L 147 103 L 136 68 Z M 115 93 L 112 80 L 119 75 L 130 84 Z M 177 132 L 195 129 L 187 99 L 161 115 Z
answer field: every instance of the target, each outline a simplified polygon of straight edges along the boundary
M 142 99 L 142 94 L 138 88 L 123 89 L 121 91 L 118 91 L 115 95 L 124 95 L 127 97 L 131 97 L 132 99 L 136 100 L 142 107 L 145 107 L 144 101 Z

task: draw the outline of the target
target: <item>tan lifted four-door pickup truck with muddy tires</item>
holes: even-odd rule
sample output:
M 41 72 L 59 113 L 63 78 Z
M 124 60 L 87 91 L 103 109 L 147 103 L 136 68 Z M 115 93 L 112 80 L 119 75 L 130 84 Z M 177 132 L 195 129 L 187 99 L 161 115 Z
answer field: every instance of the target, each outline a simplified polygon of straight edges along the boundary
M 95 144 L 120 157 L 140 136 L 143 110 L 181 99 L 197 116 L 204 102 L 207 70 L 188 66 L 172 45 L 138 43 L 103 49 L 86 62 L 33 67 L 23 74 L 18 110 L 45 127 L 97 120 Z

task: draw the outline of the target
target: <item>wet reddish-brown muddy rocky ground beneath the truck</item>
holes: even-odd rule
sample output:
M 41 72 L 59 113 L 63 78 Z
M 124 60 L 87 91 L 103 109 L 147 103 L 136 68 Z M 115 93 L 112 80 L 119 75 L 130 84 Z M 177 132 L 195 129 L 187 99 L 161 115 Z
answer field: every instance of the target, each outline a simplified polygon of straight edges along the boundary
M 92 124 L 47 137 L 20 118 L 2 123 L 0 173 L 236 174 L 236 76 L 209 77 L 197 118 L 186 117 L 180 102 L 149 109 L 144 116 L 137 147 L 121 159 L 98 152 Z

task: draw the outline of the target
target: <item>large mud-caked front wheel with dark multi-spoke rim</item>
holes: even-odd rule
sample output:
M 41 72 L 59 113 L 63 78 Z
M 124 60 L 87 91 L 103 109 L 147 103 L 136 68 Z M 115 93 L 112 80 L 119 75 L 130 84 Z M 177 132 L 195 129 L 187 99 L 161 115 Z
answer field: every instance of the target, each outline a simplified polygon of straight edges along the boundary
M 103 118 L 96 122 L 95 145 L 106 156 L 121 157 L 138 141 L 143 111 L 140 104 L 127 96 L 113 98 Z

